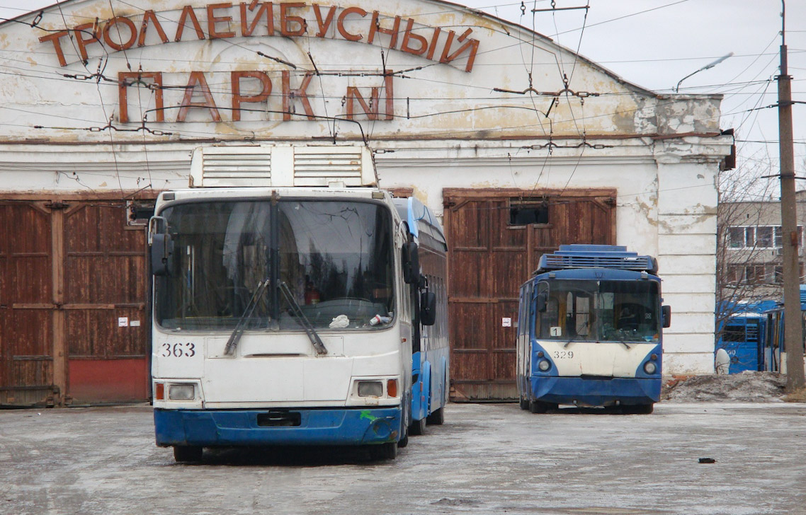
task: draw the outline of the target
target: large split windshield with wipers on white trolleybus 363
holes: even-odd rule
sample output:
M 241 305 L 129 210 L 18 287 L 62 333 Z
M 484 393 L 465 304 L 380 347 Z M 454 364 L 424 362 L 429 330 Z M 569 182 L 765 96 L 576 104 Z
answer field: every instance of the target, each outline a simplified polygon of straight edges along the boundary
M 220 200 L 160 215 L 174 245 L 171 274 L 155 282 L 164 328 L 226 330 L 245 312 L 247 329 L 272 330 L 301 330 L 300 311 L 314 328 L 338 330 L 393 317 L 393 226 L 381 204 Z

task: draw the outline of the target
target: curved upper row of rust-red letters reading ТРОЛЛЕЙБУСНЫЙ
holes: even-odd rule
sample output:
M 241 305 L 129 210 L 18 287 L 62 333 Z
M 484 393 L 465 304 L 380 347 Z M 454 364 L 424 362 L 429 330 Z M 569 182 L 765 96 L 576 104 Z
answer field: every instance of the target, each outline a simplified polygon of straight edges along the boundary
M 322 0 L 312 2 L 264 2 L 262 0 L 213 0 L 203 6 L 181 6 L 181 10 L 171 10 L 165 15 L 156 14 L 154 10 L 143 10 L 142 20 L 131 17 L 114 16 L 102 23 L 98 20 L 93 24 L 85 23 L 71 27 L 65 31 L 53 32 L 39 38 L 40 43 L 51 42 L 56 52 L 60 66 L 67 66 L 65 58 L 66 43 L 62 39 L 68 36 L 70 43 L 74 44 L 77 57 L 86 61 L 93 53 L 93 43 L 100 43 L 108 52 L 120 52 L 135 46 L 144 47 L 154 43 L 169 43 L 170 40 L 160 24 L 165 19 L 177 20 L 177 29 L 173 41 L 181 42 L 185 29 L 191 29 L 197 40 L 222 39 L 243 37 L 264 37 L 277 35 L 285 37 L 301 37 L 308 35 L 317 38 L 339 38 L 352 42 L 363 42 L 380 47 L 408 53 L 412 56 L 421 56 L 424 59 L 442 64 L 461 67 L 466 60 L 465 72 L 471 72 L 476 62 L 480 42 L 473 39 L 472 29 L 467 29 L 460 35 L 454 31 L 446 30 L 442 37 L 440 27 L 416 25 L 417 19 L 403 18 L 391 14 L 380 14 L 380 11 L 368 11 L 359 6 L 326 5 Z M 235 2 L 238 2 L 237 4 Z M 274 11 L 277 4 L 278 11 Z M 235 7 L 239 8 L 240 19 L 236 20 Z M 306 9 L 313 10 L 313 14 Z M 199 23 L 195 9 L 202 10 L 202 24 Z M 275 18 L 276 16 L 276 18 Z M 314 19 L 314 27 L 308 31 L 307 17 Z M 137 23 L 140 23 L 139 26 Z M 240 32 L 237 25 L 240 23 Z M 265 31 L 263 28 L 265 23 Z M 278 25 L 275 30 L 275 24 Z M 153 27 L 153 28 L 152 28 Z M 368 28 L 366 28 L 368 27 Z M 139 28 L 139 32 L 136 29 Z M 149 35 L 148 31 L 156 31 L 156 35 Z M 127 32 L 128 31 L 128 32 Z M 193 36 L 189 36 L 191 39 Z M 158 39 L 159 38 L 159 39 Z M 387 41 L 388 38 L 388 41 Z M 97 49 L 94 52 L 100 55 Z M 71 53 L 72 62 L 76 56 Z M 354 98 L 357 101 L 358 97 Z

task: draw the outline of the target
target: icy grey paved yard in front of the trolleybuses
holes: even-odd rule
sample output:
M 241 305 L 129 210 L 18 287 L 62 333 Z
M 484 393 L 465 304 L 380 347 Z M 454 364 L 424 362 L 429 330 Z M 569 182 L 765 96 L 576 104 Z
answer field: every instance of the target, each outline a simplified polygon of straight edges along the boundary
M 452 404 L 395 461 L 248 449 L 194 465 L 154 445 L 149 406 L 6 410 L 0 459 L 0 513 L 14 515 L 804 513 L 806 405 Z

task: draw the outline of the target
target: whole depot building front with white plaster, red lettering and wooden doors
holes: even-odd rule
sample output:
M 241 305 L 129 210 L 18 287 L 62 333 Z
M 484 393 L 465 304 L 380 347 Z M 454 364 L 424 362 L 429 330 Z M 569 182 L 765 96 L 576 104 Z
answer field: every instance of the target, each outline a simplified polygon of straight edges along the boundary
M 0 66 L 0 404 L 147 398 L 144 224 L 204 146 L 367 145 L 442 217 L 454 398 L 517 395 L 561 244 L 656 256 L 665 371 L 713 372 L 719 96 L 437 0 L 72 0 L 0 24 Z

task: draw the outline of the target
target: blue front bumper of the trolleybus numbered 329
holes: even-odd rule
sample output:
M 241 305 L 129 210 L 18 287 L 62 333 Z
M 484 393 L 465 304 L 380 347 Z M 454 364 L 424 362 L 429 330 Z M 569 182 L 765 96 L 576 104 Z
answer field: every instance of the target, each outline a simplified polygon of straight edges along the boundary
M 651 404 L 660 400 L 660 378 L 531 377 L 534 400 L 576 406 Z

